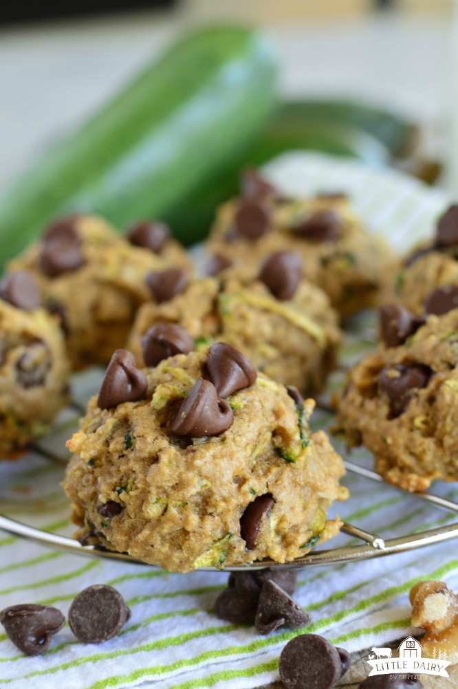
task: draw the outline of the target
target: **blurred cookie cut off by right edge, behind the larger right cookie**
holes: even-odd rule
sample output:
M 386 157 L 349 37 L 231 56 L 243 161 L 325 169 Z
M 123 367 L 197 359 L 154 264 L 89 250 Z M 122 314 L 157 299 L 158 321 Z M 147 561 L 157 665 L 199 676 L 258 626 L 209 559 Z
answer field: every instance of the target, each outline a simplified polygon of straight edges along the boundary
M 440 315 L 458 307 L 458 205 L 437 221 L 433 240 L 404 261 L 396 280 L 399 302 L 413 313 Z

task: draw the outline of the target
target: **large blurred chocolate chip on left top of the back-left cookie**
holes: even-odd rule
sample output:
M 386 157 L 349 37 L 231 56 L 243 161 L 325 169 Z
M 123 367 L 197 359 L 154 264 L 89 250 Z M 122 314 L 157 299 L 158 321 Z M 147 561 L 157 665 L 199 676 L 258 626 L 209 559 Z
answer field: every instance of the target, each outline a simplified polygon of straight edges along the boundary
M 74 220 L 74 216 L 58 220 L 48 227 L 43 236 L 39 267 L 49 278 L 74 271 L 85 262 Z

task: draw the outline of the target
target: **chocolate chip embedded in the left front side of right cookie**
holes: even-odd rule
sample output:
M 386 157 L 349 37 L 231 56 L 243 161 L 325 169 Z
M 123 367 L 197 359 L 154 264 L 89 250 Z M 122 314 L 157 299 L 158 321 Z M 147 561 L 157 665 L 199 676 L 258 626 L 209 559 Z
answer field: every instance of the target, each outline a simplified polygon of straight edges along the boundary
M 379 390 L 388 397 L 392 418 L 405 411 L 415 392 L 426 387 L 432 373 L 423 364 L 393 364 L 380 371 Z

